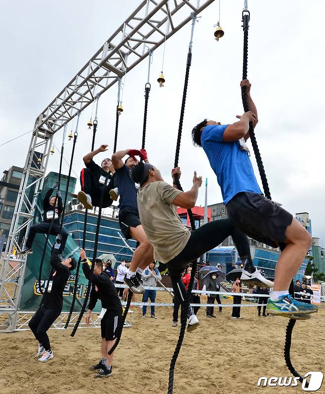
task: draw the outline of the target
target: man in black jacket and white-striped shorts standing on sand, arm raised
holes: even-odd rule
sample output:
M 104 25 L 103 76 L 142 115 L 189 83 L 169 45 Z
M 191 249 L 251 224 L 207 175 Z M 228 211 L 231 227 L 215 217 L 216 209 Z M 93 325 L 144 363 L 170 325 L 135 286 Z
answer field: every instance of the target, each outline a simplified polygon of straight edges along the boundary
M 97 300 L 101 300 L 102 303 L 100 323 L 102 358 L 98 364 L 93 365 L 90 369 L 92 371 L 99 371 L 95 375 L 96 378 L 104 378 L 113 374 L 112 361 L 114 352 L 109 355 L 108 351 L 112 348 L 116 340 L 117 329 L 122 319 L 122 305 L 116 287 L 112 283 L 108 273 L 103 271 L 103 262 L 100 259 L 95 260 L 93 275 L 91 275 L 91 270 L 83 249 L 81 249 L 80 257 L 84 276 L 88 280 L 92 280 L 86 324 L 89 324 L 91 311 L 96 306 Z

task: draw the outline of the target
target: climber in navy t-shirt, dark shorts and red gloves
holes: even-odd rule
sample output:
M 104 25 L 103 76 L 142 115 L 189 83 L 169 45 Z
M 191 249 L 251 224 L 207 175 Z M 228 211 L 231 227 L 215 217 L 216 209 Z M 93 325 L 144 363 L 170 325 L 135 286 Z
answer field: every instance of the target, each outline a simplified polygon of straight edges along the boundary
M 126 155 L 128 157 L 123 163 L 122 158 Z M 130 177 L 130 170 L 138 164 L 135 156 L 140 156 L 144 162 L 148 163 L 145 149 L 118 151 L 112 156 L 112 162 L 115 169 L 114 185 L 118 187 L 120 193 L 120 227 L 126 239 L 134 238 L 139 244 L 134 251 L 130 267 L 124 277 L 124 283 L 128 285 L 133 293 L 144 293 L 141 275 L 143 269 L 154 260 L 154 250 L 139 219 L 137 188 L 134 180 Z

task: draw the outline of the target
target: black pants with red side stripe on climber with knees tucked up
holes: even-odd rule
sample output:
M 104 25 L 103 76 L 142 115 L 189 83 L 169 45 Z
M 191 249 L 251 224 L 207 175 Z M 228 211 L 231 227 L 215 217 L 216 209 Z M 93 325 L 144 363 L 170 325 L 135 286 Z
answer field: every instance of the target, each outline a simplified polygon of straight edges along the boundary
M 94 178 L 93 173 L 88 168 L 83 168 L 80 173 L 81 190 L 91 197 L 91 202 L 94 207 L 99 206 L 100 195 L 102 193 L 103 185 L 98 183 L 98 179 Z M 113 200 L 109 195 L 109 191 L 114 188 L 114 175 L 110 179 L 106 190 L 104 191 L 103 208 L 112 205 Z

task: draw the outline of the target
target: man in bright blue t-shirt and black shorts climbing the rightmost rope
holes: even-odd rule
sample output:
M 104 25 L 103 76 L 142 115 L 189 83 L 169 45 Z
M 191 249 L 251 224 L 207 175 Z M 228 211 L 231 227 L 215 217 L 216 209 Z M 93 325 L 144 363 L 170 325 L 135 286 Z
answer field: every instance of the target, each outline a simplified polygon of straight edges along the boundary
M 291 214 L 265 198 L 258 186 L 246 145 L 249 123 L 255 128 L 258 122 L 257 110 L 250 96 L 249 81 L 242 81 L 241 87 L 246 88 L 250 111 L 237 115 L 239 121 L 228 125 L 205 119 L 193 129 L 192 139 L 195 145 L 203 147 L 217 175 L 228 219 L 251 238 L 282 250 L 268 313 L 308 319 L 318 307 L 294 300 L 288 289 L 310 248 L 311 236 Z M 250 274 L 253 273 L 245 267 L 241 279 L 249 278 Z

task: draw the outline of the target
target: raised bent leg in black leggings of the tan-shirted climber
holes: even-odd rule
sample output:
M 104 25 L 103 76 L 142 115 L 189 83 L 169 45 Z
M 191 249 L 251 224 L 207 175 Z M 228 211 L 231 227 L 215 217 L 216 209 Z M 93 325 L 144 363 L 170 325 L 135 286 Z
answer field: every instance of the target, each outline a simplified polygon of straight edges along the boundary
M 220 245 L 229 235 L 233 238 L 239 256 L 247 257 L 251 261 L 247 236 L 228 219 L 214 220 L 191 232 L 185 248 L 167 263 L 170 276 L 181 274 L 187 263 L 197 260 L 207 251 Z

